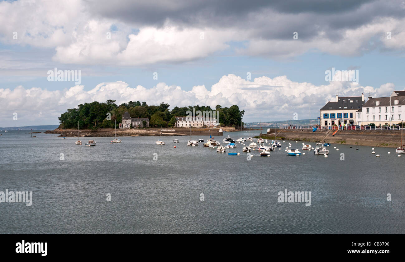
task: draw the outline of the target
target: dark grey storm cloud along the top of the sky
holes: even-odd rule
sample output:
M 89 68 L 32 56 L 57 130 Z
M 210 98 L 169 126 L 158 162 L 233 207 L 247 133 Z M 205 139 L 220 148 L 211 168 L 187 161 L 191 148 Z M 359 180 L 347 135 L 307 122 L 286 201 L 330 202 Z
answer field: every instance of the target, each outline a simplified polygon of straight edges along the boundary
M 250 38 L 283 40 L 291 39 L 293 32 L 310 40 L 320 31 L 339 40 L 340 30 L 379 17 L 403 17 L 403 5 L 401 0 L 87 0 L 93 15 L 134 27 L 161 27 L 170 21 L 179 27 L 233 28 Z

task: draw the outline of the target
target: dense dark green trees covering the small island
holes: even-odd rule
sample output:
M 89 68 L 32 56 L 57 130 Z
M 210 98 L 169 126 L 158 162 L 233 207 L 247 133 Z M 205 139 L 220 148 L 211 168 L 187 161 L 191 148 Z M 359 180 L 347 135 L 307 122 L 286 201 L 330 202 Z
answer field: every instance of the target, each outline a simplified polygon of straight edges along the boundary
M 159 106 L 148 106 L 146 102 L 129 101 L 121 105 L 115 104 L 116 100 L 107 100 L 107 102 L 99 103 L 94 101 L 92 103 L 84 103 L 77 106 L 77 108 L 68 109 L 65 113 L 61 114 L 58 118 L 60 127 L 64 128 L 77 128 L 77 121 L 79 121 L 80 129 L 97 129 L 114 127 L 115 120 L 118 124 L 122 121 L 122 115 L 128 111 L 131 117 L 147 117 L 149 118 L 150 127 L 173 127 L 175 125 L 175 116 L 186 116 L 187 111 L 200 110 L 215 111 L 217 110 L 220 116 L 220 124 L 222 126 L 243 126 L 242 118 L 245 110 L 239 110 L 236 105 L 230 108 L 222 108 L 217 105 L 214 109 L 209 106 L 188 106 L 188 107 L 175 107 L 169 110 L 169 104 L 162 102 Z M 111 120 L 107 116 L 111 114 Z

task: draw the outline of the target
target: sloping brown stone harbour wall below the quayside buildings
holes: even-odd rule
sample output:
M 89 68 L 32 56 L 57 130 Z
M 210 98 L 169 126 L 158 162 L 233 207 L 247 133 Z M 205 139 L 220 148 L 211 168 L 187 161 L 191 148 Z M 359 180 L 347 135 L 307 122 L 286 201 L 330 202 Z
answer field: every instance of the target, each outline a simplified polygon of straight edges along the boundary
M 270 129 L 265 139 L 275 139 L 276 129 Z M 347 144 L 356 146 L 383 146 L 396 148 L 401 146 L 401 131 L 398 130 L 339 130 L 332 136 L 335 130 L 317 130 L 312 132 L 308 129 L 277 129 L 277 139 L 294 140 L 304 142 L 327 142 L 330 144 Z

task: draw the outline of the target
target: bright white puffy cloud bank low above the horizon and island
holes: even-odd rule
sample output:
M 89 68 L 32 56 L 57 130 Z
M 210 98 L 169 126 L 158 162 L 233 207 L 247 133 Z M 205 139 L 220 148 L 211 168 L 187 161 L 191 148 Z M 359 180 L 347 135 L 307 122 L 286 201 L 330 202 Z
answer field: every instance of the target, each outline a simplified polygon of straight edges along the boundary
M 257 87 L 264 86 L 264 89 Z M 249 89 L 249 87 L 251 87 Z M 25 89 L 0 89 L 2 126 L 51 125 L 58 123 L 58 117 L 68 108 L 92 101 L 105 102 L 117 100 L 117 104 L 128 101 L 146 101 L 149 105 L 165 102 L 174 106 L 208 105 L 215 108 L 238 105 L 245 110 L 244 121 L 283 120 L 286 113 L 298 112 L 302 119 L 308 118 L 309 103 L 312 110 L 318 110 L 327 101 L 334 101 L 336 90 L 343 90 L 340 96 L 388 96 L 394 89 L 392 83 L 379 88 L 362 87 L 351 82 L 329 82 L 328 85 L 313 85 L 307 82 L 293 82 L 287 76 L 269 78 L 262 76 L 254 80 L 245 80 L 240 76 L 229 74 L 208 90 L 204 85 L 194 86 L 185 91 L 176 85 L 168 86 L 163 82 L 146 88 L 130 87 L 126 82 L 103 82 L 89 91 L 83 85 L 77 85 L 62 91 L 48 91 L 38 87 Z M 343 93 L 342 93 L 343 92 Z M 315 103 L 315 104 L 313 104 Z M 18 123 L 13 120 L 13 113 L 18 114 Z M 313 111 L 312 111 L 313 112 Z M 23 124 L 21 124 L 23 123 Z

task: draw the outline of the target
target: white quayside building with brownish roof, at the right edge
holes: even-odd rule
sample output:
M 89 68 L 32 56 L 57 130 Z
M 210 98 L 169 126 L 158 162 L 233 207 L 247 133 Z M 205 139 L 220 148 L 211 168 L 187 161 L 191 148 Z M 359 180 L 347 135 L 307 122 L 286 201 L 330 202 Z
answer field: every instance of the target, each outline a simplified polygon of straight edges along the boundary
M 403 111 L 404 110 L 404 111 Z M 362 109 L 362 125 L 398 124 L 405 112 L 405 91 L 394 91 L 389 97 L 369 97 Z

